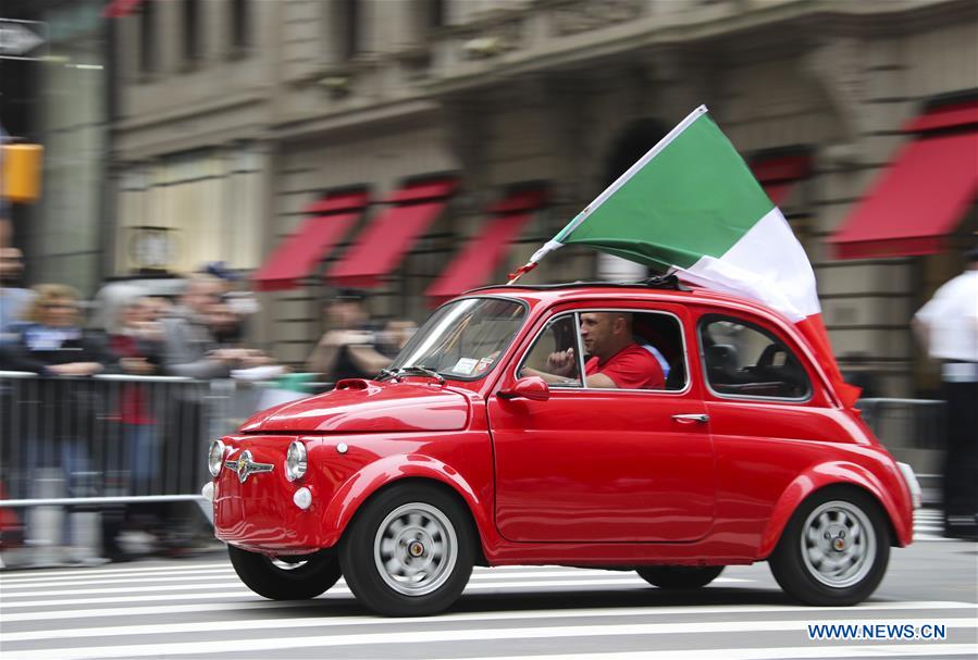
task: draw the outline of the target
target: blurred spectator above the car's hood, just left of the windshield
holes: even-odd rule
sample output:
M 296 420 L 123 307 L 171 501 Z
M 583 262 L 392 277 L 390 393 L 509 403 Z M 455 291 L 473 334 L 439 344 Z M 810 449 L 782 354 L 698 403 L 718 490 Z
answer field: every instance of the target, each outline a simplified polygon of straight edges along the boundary
M 330 329 L 306 361 L 307 371 L 329 382 L 343 378 L 373 378 L 391 363 L 377 350 L 376 328 L 367 313 L 367 295 L 358 289 L 341 289 L 326 306 Z

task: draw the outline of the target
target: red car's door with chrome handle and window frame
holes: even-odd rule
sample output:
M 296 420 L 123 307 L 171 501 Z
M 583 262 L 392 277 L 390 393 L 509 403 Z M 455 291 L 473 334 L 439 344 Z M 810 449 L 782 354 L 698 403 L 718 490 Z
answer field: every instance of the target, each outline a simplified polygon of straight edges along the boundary
M 581 351 L 579 312 L 552 314 L 507 366 L 499 390 L 525 363 L 571 336 Z M 685 347 L 695 346 L 685 310 L 634 309 L 674 324 L 671 390 L 595 389 L 579 362 L 571 383 L 548 400 L 487 402 L 496 468 L 496 525 L 515 541 L 689 541 L 714 519 L 714 452 L 700 385 L 689 377 Z M 661 321 L 661 319 L 656 319 Z M 559 327 L 565 324 L 565 327 Z M 567 325 L 570 325 L 568 331 Z

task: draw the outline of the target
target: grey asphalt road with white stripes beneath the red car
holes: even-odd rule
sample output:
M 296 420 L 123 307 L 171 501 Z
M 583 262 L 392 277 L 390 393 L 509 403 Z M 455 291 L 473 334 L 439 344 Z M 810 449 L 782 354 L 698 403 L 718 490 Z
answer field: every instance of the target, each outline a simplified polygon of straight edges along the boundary
M 476 569 L 447 613 L 381 619 L 345 585 L 272 602 L 223 553 L 0 573 L 3 660 L 57 658 L 978 658 L 978 544 L 895 549 L 856 608 L 790 601 L 767 564 L 733 566 L 695 594 L 634 573 L 557 566 Z M 807 624 L 937 624 L 945 639 L 809 639 Z M 874 628 L 875 630 L 875 628 Z M 903 628 L 906 630 L 906 628 Z M 917 628 L 919 630 L 919 628 Z

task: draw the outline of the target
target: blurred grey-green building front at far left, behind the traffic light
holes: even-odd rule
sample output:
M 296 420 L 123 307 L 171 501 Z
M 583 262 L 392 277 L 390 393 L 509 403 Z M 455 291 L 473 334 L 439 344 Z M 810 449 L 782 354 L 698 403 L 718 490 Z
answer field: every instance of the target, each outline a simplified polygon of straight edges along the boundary
M 37 45 L 0 57 L 0 125 L 44 146 L 41 196 L 11 206 L 12 245 L 32 283 L 61 282 L 89 296 L 108 267 L 104 182 L 109 154 L 109 25 L 101 0 L 8 0 L 0 18 Z M 109 229 L 108 235 L 106 233 Z

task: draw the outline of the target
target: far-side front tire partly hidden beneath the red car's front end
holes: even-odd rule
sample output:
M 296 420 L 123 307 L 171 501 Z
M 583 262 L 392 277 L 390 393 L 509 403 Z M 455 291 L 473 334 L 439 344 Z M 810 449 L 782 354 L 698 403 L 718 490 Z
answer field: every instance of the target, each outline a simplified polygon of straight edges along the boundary
M 242 582 L 259 596 L 272 600 L 315 598 L 336 584 L 341 575 L 339 562 L 333 550 L 273 561 L 264 555 L 228 545 L 227 555 Z

